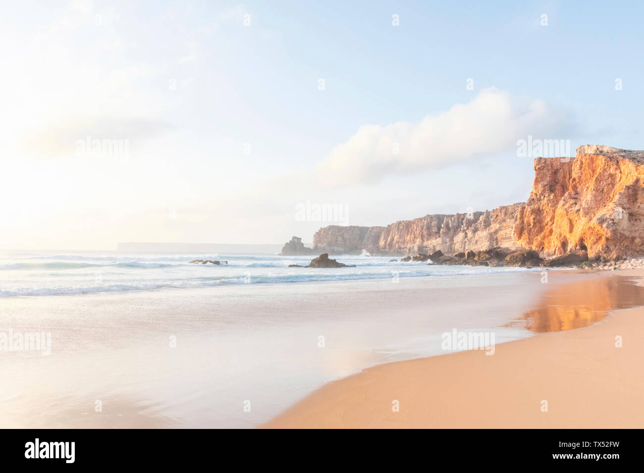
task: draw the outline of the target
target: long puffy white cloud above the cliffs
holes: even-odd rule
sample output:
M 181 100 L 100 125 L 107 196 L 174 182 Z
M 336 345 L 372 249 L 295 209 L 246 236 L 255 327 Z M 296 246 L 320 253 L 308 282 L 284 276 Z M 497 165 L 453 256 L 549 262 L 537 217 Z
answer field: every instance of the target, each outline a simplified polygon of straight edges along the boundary
M 471 102 L 421 122 L 363 125 L 318 163 L 316 171 L 325 185 L 366 183 L 513 149 L 516 140 L 529 134 L 568 138 L 555 134 L 570 131 L 570 124 L 564 113 L 542 100 L 516 100 L 507 92 L 484 89 Z

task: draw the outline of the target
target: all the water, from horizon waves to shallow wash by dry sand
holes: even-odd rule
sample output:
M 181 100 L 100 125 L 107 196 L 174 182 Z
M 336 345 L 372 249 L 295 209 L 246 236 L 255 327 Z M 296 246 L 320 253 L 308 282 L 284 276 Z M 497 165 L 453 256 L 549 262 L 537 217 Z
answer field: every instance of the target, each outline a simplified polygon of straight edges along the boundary
M 455 329 L 496 344 L 535 335 L 518 317 L 571 273 L 544 284 L 542 268 L 366 255 L 337 256 L 355 268 L 288 267 L 310 259 L 5 252 L 0 340 L 51 342 L 0 347 L 0 427 L 256 427 L 327 382 L 448 353 Z

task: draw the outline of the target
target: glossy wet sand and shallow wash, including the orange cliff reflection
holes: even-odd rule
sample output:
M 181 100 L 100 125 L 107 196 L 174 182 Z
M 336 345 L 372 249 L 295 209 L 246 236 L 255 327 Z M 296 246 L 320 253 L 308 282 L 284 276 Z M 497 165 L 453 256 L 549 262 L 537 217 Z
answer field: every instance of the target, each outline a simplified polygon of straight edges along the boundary
M 642 303 L 623 277 L 547 274 L 5 297 L 0 332 L 52 346 L 0 351 L 0 427 L 253 427 L 325 382 L 444 354 L 453 329 L 498 344 Z

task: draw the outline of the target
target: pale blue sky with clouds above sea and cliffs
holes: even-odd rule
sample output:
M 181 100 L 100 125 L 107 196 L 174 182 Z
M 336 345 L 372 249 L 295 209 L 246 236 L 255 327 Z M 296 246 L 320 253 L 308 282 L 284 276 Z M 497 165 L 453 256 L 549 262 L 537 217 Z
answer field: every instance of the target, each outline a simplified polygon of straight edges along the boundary
M 643 149 L 639 2 L 16 2 L 0 248 L 310 243 L 526 201 L 518 140 Z M 325 209 L 325 212 L 317 210 Z

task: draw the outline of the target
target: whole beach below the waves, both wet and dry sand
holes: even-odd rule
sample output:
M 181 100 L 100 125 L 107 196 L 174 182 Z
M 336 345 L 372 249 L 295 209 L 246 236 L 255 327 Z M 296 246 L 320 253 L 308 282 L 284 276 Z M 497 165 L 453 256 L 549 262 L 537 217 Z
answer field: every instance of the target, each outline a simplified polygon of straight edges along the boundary
M 0 351 L 0 425 L 576 427 L 613 425 L 616 403 L 641 425 L 638 317 L 608 317 L 644 305 L 627 272 L 448 270 L 5 297 L 5 330 L 51 342 Z M 494 355 L 446 351 L 453 330 L 493 334 Z

